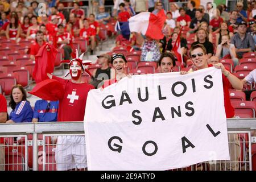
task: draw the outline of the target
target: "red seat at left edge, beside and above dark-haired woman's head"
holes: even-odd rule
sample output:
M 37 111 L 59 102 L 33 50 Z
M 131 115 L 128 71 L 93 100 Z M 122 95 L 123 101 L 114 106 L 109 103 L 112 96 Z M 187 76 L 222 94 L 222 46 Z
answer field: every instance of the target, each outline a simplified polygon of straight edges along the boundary
M 16 78 L 11 76 L 11 74 L 7 74 L 7 76 L 2 76 L 0 77 L 0 85 L 2 87 L 2 92 L 5 93 L 5 96 L 10 96 L 11 89 L 14 85 L 16 85 Z

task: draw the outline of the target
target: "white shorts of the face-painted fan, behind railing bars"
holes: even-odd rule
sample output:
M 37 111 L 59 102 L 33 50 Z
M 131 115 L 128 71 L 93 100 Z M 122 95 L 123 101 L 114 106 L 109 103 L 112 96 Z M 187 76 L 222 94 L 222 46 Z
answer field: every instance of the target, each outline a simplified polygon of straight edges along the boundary
M 84 136 L 59 136 L 55 151 L 57 171 L 87 168 Z

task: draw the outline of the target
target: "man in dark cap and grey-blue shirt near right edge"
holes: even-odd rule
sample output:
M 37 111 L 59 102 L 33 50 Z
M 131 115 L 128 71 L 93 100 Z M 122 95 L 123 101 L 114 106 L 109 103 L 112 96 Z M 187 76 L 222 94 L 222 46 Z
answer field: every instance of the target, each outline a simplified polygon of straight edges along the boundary
M 237 28 L 238 33 L 235 34 L 232 39 L 231 43 L 236 47 L 236 53 L 238 58 L 242 58 L 243 53 L 254 51 L 254 40 L 250 34 L 246 34 L 246 22 L 241 22 Z

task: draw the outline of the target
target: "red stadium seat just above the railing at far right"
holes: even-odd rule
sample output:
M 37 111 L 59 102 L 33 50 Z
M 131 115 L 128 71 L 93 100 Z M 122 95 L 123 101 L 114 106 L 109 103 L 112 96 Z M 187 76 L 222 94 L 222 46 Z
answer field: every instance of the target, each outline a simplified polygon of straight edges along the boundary
M 252 101 L 235 101 L 231 102 L 236 114 L 249 114 L 251 118 L 255 118 L 256 105 Z

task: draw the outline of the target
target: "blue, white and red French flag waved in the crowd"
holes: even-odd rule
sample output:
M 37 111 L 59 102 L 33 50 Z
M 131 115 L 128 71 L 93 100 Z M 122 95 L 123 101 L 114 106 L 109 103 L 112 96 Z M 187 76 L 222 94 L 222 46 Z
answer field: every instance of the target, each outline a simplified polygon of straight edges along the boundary
M 164 37 L 162 29 L 165 21 L 166 14 L 164 14 L 164 10 L 159 11 L 157 15 L 150 12 L 142 12 L 129 18 L 128 22 L 117 23 L 115 30 L 121 30 L 122 35 L 137 32 L 152 39 L 160 40 Z

